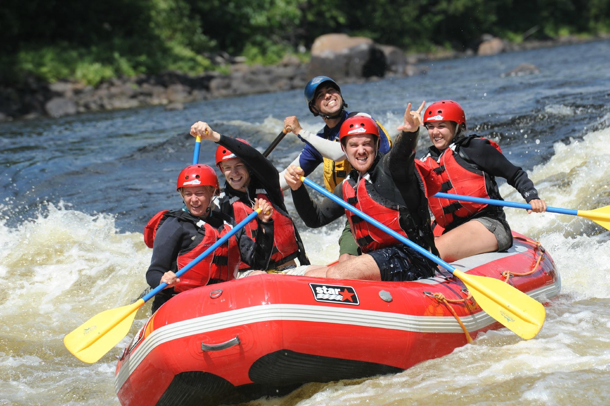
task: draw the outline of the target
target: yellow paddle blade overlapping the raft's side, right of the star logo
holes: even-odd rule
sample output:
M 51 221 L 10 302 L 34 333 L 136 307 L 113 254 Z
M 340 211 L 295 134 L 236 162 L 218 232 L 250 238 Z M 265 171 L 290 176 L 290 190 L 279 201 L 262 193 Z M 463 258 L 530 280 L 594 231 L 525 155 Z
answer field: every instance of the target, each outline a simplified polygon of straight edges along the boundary
M 481 309 L 521 338 L 533 338 L 542 328 L 544 306 L 519 289 L 498 279 L 459 270 L 454 270 L 453 275 L 464 282 Z

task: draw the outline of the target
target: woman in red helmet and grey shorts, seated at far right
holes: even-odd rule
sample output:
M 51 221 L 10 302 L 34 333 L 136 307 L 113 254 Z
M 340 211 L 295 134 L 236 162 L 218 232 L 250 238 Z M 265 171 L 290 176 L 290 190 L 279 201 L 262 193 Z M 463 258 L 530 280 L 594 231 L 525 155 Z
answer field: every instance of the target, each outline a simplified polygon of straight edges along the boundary
M 432 171 L 431 176 L 425 176 L 430 195 L 436 190 L 501 200 L 495 181 L 495 176 L 501 176 L 532 206 L 529 212 L 547 209 L 527 173 L 511 164 L 497 143 L 475 134 L 466 135 L 466 117 L 458 103 L 432 103 L 424 112 L 423 123 L 432 142 L 428 154 L 421 159 Z M 440 190 L 433 186 L 439 183 Z M 436 197 L 429 197 L 429 206 L 436 225 L 444 228 L 436 247 L 445 261 L 506 250 L 512 245 L 511 228 L 501 206 Z M 438 230 L 434 234 L 438 235 Z

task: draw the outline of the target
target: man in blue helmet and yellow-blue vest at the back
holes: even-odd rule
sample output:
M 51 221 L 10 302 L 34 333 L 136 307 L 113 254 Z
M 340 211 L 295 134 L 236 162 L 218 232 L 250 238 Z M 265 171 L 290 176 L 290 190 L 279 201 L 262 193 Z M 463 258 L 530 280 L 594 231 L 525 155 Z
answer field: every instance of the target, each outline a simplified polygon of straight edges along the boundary
M 307 176 L 314 172 L 318 165 L 324 164 L 324 183 L 326 189 L 332 192 L 351 170 L 350 162 L 338 142 L 339 129 L 343 121 L 354 115 L 371 116 L 361 112 L 346 111 L 347 103 L 343 100 L 339 85 L 328 76 L 316 76 L 307 83 L 305 100 L 314 117 L 319 115 L 326 125 L 317 134 L 312 134 L 301 128 L 296 116 L 285 118 L 284 128 L 290 127 L 292 132 L 305 143 L 305 147 L 291 165 L 301 167 Z M 381 139 L 379 151 L 388 153 L 392 148 L 392 140 L 379 121 L 376 123 L 379 126 Z M 288 187 L 284 173 L 285 170 L 279 175 L 282 190 Z M 345 261 L 356 255 L 359 255 L 358 246 L 351 235 L 350 223 L 347 222 L 339 238 L 339 261 Z

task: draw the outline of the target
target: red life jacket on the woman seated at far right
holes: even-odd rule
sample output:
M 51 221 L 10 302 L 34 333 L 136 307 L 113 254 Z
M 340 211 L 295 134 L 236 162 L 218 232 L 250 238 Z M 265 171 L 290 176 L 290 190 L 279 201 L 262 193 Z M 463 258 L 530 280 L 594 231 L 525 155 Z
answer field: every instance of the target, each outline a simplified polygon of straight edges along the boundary
M 478 165 L 469 161 L 464 151 L 460 151 L 462 145 L 467 145 L 473 138 L 485 139 L 478 136 L 462 138 L 458 142 L 452 143 L 437 159 L 428 154 L 428 156 L 422 158 L 422 161 L 442 179 L 441 192 L 498 199 L 500 193 L 493 176 L 483 172 Z M 502 152 L 498 143 L 492 140 L 488 141 L 498 151 Z M 456 156 L 459 156 L 459 159 L 456 159 Z M 471 203 L 437 197 L 429 197 L 428 204 L 432 214 L 434 214 L 436 223 L 443 228 L 457 227 L 457 225 L 464 223 L 465 219 L 489 206 L 484 203 Z

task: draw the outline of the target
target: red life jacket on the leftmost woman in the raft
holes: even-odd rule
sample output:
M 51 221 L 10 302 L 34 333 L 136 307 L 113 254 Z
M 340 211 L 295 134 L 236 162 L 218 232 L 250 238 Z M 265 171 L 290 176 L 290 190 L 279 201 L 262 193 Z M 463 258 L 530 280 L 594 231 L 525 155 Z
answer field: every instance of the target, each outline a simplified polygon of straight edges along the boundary
M 157 230 L 168 217 L 177 217 L 178 219 L 192 222 L 198 227 L 198 236 L 193 240 L 193 243 L 178 253 L 176 269 L 173 269 L 174 272 L 187 266 L 188 263 L 197 258 L 232 229 L 232 226 L 227 222 L 224 222 L 220 228 L 214 228 L 203 220 L 190 216 L 190 214 L 184 211 L 164 210 L 152 216 L 152 219 L 149 220 L 144 229 L 144 242 L 149 248 L 152 248 Z M 174 291 L 182 292 L 187 289 L 205 286 L 210 279 L 221 281 L 233 280 L 237 277 L 240 263 L 241 256 L 237 245 L 237 238 L 231 236 L 228 241 L 216 248 L 213 253 L 201 259 L 195 266 L 181 275 L 180 281 L 174 285 Z

